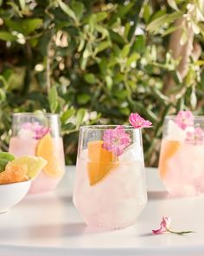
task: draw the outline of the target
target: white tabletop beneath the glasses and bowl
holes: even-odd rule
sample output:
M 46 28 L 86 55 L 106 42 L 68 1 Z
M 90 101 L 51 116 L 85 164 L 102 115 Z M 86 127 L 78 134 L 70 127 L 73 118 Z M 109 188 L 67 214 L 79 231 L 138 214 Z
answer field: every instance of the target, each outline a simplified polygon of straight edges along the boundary
M 149 201 L 136 224 L 116 231 L 98 230 L 86 226 L 73 207 L 74 170 L 67 167 L 54 192 L 27 195 L 8 213 L 0 214 L 1 256 L 204 255 L 204 195 L 170 197 L 157 170 L 149 168 Z M 194 233 L 152 235 L 163 216 L 171 217 L 175 230 Z

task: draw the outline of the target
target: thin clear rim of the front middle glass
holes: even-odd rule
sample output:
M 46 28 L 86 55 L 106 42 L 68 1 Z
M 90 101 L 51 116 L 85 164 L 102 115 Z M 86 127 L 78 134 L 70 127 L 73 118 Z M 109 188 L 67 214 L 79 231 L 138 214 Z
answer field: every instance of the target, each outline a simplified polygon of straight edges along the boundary
M 84 125 L 80 127 L 80 130 L 106 130 L 117 128 L 118 126 L 122 126 L 125 131 L 127 130 L 140 130 L 141 128 L 134 128 L 131 125 L 117 125 L 117 124 L 93 124 L 93 125 Z

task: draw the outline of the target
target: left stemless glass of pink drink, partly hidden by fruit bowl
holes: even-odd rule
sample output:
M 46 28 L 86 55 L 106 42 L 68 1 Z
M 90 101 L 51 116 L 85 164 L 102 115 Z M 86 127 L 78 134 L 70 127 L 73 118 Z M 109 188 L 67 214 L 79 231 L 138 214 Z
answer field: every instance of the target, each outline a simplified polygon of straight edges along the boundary
M 47 166 L 32 181 L 30 193 L 54 189 L 65 173 L 59 116 L 42 113 L 14 114 L 9 151 L 16 156 L 41 156 L 48 161 Z

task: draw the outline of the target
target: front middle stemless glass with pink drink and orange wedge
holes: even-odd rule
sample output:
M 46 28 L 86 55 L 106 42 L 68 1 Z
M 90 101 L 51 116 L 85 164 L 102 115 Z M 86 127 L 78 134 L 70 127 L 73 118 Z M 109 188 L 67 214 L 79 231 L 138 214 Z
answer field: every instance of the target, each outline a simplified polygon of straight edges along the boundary
M 73 203 L 86 224 L 109 229 L 130 226 L 146 202 L 141 130 L 81 127 Z

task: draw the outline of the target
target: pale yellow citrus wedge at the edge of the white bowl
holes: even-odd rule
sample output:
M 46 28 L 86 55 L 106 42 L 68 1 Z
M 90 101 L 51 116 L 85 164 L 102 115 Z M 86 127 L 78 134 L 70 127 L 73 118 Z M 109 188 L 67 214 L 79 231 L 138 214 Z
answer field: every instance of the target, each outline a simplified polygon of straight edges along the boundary
M 42 157 L 36 156 L 20 156 L 13 161 L 10 161 L 10 166 L 27 166 L 27 175 L 30 179 L 34 179 L 45 167 L 47 161 Z

